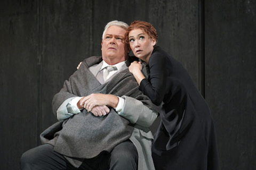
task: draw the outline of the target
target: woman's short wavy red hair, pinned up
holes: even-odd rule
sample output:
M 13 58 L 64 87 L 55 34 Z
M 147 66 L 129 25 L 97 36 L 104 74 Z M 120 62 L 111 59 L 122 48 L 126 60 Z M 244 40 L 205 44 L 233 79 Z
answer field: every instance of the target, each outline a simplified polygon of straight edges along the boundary
M 145 21 L 133 21 L 131 25 L 127 28 L 125 32 L 125 43 L 129 44 L 129 33 L 134 29 L 141 29 L 143 30 L 151 39 L 156 40 L 157 44 L 157 32 L 156 29 L 153 27 L 152 24 Z

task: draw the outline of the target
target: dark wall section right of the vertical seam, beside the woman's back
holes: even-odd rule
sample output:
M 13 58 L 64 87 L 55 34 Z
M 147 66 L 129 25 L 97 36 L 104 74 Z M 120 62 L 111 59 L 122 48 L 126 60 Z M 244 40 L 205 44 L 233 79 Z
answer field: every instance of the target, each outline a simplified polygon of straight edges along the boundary
M 205 98 L 222 169 L 256 169 L 256 1 L 205 3 Z

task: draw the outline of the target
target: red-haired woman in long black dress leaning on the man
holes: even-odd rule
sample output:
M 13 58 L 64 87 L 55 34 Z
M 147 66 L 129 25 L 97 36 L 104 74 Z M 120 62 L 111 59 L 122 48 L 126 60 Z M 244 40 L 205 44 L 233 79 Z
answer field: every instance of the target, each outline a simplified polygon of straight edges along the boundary
M 144 77 L 141 62 L 133 62 L 129 71 L 143 94 L 163 104 L 152 146 L 155 168 L 219 169 L 210 109 L 187 71 L 156 46 L 157 32 L 150 23 L 132 22 L 125 37 L 133 54 L 148 64 L 150 75 Z

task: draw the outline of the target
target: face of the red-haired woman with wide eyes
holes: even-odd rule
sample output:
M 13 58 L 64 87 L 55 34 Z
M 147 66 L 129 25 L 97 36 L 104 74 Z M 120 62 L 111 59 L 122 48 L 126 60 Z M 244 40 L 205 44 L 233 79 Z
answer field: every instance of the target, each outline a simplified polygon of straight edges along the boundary
M 129 42 L 133 54 L 148 63 L 156 40 L 151 39 L 143 30 L 134 29 L 129 33 Z

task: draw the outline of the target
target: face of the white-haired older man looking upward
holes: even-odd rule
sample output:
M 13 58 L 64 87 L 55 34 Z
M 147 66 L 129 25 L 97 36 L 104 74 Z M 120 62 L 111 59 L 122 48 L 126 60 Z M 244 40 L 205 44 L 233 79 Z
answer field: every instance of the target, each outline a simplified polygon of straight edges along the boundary
M 102 58 L 107 63 L 116 64 L 127 60 L 127 45 L 124 41 L 126 30 L 118 26 L 109 27 L 101 42 Z M 108 63 L 108 64 L 110 64 Z

